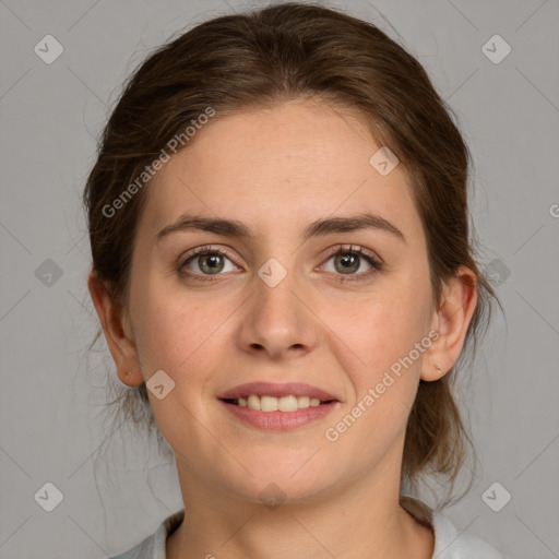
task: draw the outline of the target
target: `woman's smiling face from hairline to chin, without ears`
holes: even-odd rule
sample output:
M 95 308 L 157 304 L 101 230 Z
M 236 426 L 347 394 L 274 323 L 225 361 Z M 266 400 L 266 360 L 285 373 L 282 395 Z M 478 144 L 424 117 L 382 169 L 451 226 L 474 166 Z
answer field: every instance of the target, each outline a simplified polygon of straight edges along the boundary
M 164 371 L 150 400 L 182 479 L 254 501 L 266 487 L 296 500 L 400 480 L 438 322 L 420 218 L 402 166 L 370 163 L 380 147 L 325 104 L 217 114 L 145 187 L 126 328 L 143 379 Z M 175 227 L 192 216 L 248 235 Z M 264 412 L 221 400 L 254 382 L 335 402 Z

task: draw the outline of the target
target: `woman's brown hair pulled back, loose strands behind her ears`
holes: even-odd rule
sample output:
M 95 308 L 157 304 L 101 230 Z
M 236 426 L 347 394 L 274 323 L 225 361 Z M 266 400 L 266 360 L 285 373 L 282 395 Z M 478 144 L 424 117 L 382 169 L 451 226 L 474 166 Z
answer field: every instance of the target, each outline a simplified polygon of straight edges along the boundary
M 435 301 L 442 281 L 459 266 L 476 274 L 478 305 L 466 336 L 475 352 L 495 293 L 473 255 L 466 192 L 471 157 L 453 112 L 419 62 L 388 35 L 312 4 L 276 4 L 202 23 L 152 53 L 130 78 L 83 197 L 93 269 L 114 300 L 127 298 L 145 188 L 127 199 L 116 217 L 107 217 L 104 207 L 207 107 L 223 116 L 307 96 L 357 109 L 378 145 L 397 155 L 424 225 Z M 419 383 L 407 424 L 403 486 L 416 487 L 426 473 L 454 485 L 469 444 L 451 390 L 456 369 Z M 119 385 L 124 416 L 136 423 L 145 418 L 153 428 L 145 383 Z M 147 414 L 140 413 L 142 406 Z

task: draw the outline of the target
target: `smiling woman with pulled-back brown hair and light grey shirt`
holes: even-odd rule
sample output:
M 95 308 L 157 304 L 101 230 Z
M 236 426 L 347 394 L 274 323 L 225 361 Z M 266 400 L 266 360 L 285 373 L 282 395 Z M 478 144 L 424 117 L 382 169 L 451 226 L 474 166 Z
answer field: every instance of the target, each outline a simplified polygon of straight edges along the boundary
M 467 147 L 373 25 L 295 3 L 152 55 L 84 201 L 90 293 L 186 504 L 126 558 L 501 557 L 415 493 L 452 490 L 450 390 L 493 293 Z

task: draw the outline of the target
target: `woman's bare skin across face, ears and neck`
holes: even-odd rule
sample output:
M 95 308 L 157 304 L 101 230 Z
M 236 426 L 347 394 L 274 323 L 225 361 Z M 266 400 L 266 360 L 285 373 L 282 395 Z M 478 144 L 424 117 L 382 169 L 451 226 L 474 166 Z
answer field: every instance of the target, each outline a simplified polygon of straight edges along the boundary
M 378 148 L 358 115 L 324 102 L 217 115 L 146 187 L 124 304 L 91 274 L 120 380 L 138 385 L 163 369 L 176 383 L 163 400 L 150 392 L 187 503 L 167 543 L 170 559 L 431 557 L 432 531 L 399 504 L 405 426 L 419 379 L 442 377 L 460 356 L 476 278 L 461 267 L 433 305 L 405 169 L 381 176 L 369 164 Z M 317 219 L 365 211 L 405 241 L 376 229 L 299 240 Z M 154 241 L 185 212 L 238 219 L 255 236 L 186 230 Z M 218 275 L 206 272 L 215 283 L 195 280 L 207 270 L 203 257 L 182 269 L 191 276 L 178 271 L 204 245 L 230 254 Z M 344 274 L 328 250 L 347 245 L 382 269 L 342 283 L 372 270 L 360 259 Z M 287 271 L 275 287 L 258 275 L 270 258 Z M 325 430 L 431 330 L 439 338 L 337 441 L 326 440 Z M 258 380 L 307 382 L 340 403 L 295 430 L 260 430 L 216 400 Z M 285 496 L 275 509 L 259 499 L 271 483 Z

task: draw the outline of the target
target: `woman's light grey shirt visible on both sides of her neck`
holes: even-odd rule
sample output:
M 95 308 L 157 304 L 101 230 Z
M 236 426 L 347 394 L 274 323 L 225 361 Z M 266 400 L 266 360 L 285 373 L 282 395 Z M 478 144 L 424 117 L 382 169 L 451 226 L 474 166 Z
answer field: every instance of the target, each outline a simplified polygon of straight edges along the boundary
M 429 509 L 425 503 L 403 497 L 401 504 L 419 521 L 427 522 L 435 532 L 432 559 L 504 559 L 487 542 L 460 532 L 441 512 Z M 166 559 L 165 545 L 170 533 L 179 526 L 185 509 L 167 516 L 155 534 L 146 537 L 132 549 L 109 559 Z

